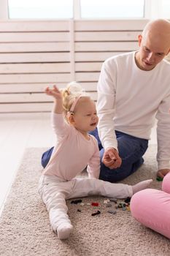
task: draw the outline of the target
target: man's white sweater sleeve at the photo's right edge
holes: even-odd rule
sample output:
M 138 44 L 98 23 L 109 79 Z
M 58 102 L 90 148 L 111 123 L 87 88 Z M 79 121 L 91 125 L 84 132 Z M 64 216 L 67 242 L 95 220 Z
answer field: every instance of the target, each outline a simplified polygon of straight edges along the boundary
M 170 94 L 163 99 L 158 108 L 156 118 L 157 140 L 158 140 L 158 170 L 170 167 L 170 115 L 169 115 Z

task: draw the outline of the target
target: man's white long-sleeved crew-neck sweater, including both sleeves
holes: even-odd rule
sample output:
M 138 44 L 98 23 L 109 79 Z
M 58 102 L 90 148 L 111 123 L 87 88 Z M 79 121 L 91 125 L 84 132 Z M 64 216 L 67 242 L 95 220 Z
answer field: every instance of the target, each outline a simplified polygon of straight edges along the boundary
M 117 148 L 115 130 L 150 139 L 158 119 L 158 169 L 170 160 L 170 64 L 161 61 L 144 71 L 136 66 L 135 52 L 113 56 L 101 68 L 98 80 L 98 133 L 104 148 Z

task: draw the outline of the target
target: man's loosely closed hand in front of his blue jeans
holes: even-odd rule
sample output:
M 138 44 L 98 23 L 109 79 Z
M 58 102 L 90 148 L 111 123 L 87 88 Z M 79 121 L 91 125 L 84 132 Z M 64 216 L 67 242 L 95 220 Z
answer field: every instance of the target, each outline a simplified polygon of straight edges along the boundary
M 106 151 L 104 151 L 102 162 L 109 167 L 109 169 L 116 169 L 122 164 L 122 159 L 119 157 L 115 148 L 107 148 Z

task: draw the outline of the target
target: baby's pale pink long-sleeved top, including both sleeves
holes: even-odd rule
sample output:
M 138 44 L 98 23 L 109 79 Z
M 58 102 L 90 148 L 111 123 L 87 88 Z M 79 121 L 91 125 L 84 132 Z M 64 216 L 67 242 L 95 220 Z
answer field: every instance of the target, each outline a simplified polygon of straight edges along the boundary
M 52 113 L 52 124 L 57 143 L 43 174 L 70 181 L 88 165 L 88 176 L 98 178 L 100 157 L 96 138 L 90 135 L 90 140 L 85 139 L 66 123 L 62 114 Z

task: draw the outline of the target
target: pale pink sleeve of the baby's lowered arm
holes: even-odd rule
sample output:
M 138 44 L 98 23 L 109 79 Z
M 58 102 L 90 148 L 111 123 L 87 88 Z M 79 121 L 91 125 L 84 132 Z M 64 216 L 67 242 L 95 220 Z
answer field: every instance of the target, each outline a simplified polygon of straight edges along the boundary
M 91 136 L 93 137 L 93 136 Z M 94 154 L 88 162 L 88 177 L 89 178 L 99 178 L 100 174 L 100 154 L 98 149 L 98 143 L 96 138 L 93 138 Z

